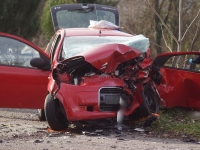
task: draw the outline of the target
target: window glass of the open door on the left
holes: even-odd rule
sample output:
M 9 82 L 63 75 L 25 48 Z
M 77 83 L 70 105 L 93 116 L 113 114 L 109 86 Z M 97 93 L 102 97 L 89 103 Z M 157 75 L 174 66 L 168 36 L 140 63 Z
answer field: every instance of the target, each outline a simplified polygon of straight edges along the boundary
M 30 60 L 40 57 L 37 50 L 12 38 L 0 37 L 0 65 L 32 68 Z

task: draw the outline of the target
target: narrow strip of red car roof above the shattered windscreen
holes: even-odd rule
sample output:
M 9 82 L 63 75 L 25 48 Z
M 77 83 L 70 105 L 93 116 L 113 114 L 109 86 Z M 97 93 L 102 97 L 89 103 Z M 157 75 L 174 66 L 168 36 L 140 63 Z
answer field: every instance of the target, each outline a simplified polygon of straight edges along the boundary
M 65 32 L 65 36 L 134 36 L 122 31 L 108 29 L 66 28 L 60 29 L 58 32 L 60 31 Z

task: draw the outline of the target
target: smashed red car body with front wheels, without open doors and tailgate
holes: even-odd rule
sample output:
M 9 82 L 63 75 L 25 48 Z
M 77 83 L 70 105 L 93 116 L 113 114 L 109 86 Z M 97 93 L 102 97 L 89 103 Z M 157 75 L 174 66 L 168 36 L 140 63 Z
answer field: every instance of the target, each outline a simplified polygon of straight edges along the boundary
M 68 36 L 67 29 L 57 32 L 64 39 L 53 59 L 45 100 L 45 114 L 51 128 L 66 128 L 61 123 L 63 119 L 67 123 L 67 120 L 116 117 L 120 108 L 124 108 L 125 116 L 131 116 L 140 106 L 140 114 L 145 116 L 157 112 L 158 97 L 149 77 L 152 61 L 148 52 L 143 56 L 133 47 L 116 44 L 122 35 L 123 40 L 133 38 L 120 31 L 102 30 L 101 36 L 91 36 L 98 30 L 84 29 L 77 34 L 81 32 L 87 33 L 82 41 L 82 37 Z M 115 37 L 112 39 L 112 36 Z M 77 41 L 80 42 L 77 44 Z M 113 43 L 106 44 L 106 41 Z M 73 57 L 68 58 L 71 51 Z M 58 116 L 62 118 L 59 120 Z

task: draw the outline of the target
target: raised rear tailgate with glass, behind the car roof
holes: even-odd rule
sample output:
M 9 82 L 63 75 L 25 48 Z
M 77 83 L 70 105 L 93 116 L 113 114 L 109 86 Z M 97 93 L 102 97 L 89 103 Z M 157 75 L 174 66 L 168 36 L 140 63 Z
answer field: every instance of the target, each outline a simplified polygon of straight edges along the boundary
M 115 7 L 99 4 L 62 4 L 51 8 L 54 30 L 60 28 L 87 28 L 90 20 L 106 20 L 119 25 Z

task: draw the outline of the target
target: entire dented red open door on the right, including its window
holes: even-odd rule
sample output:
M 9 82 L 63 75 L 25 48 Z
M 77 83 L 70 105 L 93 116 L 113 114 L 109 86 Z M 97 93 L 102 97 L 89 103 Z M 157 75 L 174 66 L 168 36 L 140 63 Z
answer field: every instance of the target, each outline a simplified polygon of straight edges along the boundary
M 191 64 L 200 52 L 159 55 L 153 62 L 153 80 L 167 108 L 181 106 L 200 110 L 200 64 Z

